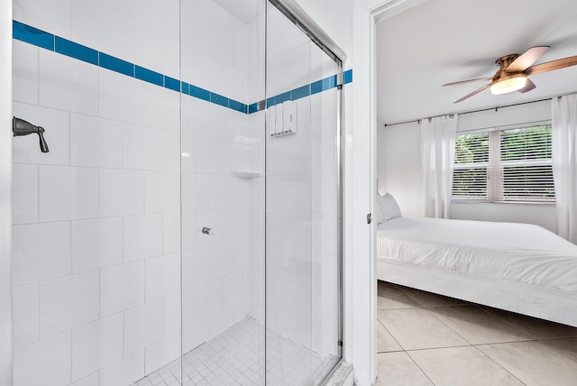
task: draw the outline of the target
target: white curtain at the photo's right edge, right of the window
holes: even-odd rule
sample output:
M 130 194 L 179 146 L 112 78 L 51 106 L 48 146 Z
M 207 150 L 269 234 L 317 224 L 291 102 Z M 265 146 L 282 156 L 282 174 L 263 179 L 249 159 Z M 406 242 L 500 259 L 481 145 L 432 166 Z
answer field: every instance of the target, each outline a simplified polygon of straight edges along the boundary
M 557 234 L 577 244 L 577 95 L 551 102 Z

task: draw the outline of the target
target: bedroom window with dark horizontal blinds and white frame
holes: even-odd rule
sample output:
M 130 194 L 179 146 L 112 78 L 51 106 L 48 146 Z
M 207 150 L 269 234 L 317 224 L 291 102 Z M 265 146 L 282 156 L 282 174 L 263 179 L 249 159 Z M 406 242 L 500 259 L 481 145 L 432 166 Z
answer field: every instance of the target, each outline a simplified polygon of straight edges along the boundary
M 551 124 L 457 135 L 453 199 L 554 202 Z

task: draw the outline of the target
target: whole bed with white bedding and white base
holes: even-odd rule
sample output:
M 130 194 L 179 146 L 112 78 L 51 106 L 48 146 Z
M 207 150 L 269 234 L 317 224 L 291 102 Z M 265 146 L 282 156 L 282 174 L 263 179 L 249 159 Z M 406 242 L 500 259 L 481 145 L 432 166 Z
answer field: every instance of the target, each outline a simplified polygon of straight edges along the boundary
M 577 326 L 577 245 L 537 225 L 395 216 L 380 280 Z

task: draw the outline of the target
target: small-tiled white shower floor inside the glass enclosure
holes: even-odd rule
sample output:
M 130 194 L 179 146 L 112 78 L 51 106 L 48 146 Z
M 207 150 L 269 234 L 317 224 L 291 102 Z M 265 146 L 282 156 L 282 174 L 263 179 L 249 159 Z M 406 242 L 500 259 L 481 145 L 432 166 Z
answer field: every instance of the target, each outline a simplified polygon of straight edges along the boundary
M 137 381 L 133 386 L 264 385 L 264 327 L 246 317 L 221 335 L 199 345 L 182 358 Z M 266 381 L 268 385 L 315 384 L 337 362 L 267 330 Z M 312 380 L 312 381 L 311 381 Z

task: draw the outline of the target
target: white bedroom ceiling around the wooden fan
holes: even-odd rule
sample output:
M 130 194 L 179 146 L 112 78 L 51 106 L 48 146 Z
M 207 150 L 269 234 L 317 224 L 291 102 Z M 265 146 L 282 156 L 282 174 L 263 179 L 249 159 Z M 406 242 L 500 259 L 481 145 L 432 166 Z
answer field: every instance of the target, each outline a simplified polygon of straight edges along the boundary
M 577 92 L 577 66 L 531 78 L 536 88 L 493 96 L 485 90 L 495 60 L 529 47 L 551 49 L 536 63 L 577 55 L 576 0 L 426 0 L 377 23 L 378 118 L 393 124 Z

